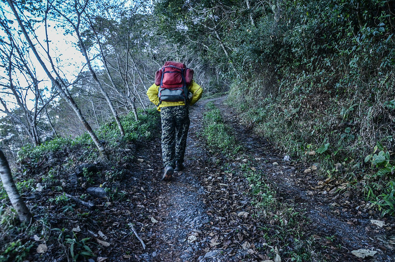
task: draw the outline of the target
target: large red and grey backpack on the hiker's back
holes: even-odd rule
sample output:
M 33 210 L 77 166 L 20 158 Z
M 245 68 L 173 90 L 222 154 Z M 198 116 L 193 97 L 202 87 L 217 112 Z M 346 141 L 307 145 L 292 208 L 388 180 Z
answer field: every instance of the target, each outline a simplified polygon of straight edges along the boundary
M 194 70 L 183 63 L 167 61 L 155 74 L 155 85 L 159 86 L 159 101 L 188 101 L 188 87 L 192 83 Z

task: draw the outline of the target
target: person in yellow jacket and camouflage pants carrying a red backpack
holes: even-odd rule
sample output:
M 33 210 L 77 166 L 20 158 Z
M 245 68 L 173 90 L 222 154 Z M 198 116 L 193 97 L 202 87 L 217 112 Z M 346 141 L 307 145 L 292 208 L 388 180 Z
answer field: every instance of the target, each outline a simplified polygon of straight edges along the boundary
M 167 61 L 156 73 L 155 84 L 147 90 L 148 98 L 160 112 L 162 124 L 162 180 L 174 171 L 182 171 L 190 125 L 189 106 L 200 99 L 203 89 L 193 81 L 194 71 L 182 63 Z M 192 96 L 189 98 L 189 93 Z

